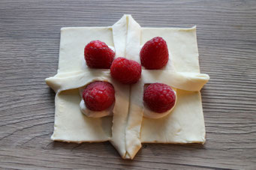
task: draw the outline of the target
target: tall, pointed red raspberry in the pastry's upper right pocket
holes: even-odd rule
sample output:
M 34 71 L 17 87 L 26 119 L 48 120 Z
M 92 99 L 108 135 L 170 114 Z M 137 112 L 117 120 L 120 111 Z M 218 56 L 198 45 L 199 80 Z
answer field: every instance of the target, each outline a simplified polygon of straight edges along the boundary
M 140 62 L 146 69 L 155 70 L 164 67 L 169 59 L 167 43 L 162 37 L 147 41 L 140 50 Z

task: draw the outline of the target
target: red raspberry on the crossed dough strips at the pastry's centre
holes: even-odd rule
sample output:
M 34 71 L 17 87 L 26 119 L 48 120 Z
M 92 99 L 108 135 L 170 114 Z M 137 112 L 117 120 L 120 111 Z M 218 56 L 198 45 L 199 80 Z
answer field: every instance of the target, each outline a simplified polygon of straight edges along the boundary
M 123 84 L 134 84 L 140 79 L 141 65 L 126 58 L 116 58 L 110 67 L 110 74 Z

